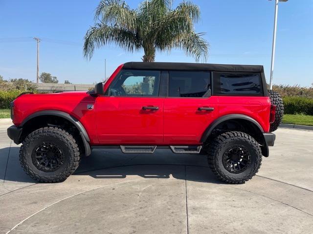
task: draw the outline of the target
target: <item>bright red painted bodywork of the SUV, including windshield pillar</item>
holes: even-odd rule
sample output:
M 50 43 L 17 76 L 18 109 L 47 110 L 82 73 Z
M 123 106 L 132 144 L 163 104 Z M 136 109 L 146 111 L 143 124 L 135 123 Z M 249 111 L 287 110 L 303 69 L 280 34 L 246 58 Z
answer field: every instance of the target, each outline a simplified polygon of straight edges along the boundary
M 104 91 L 123 68 L 120 65 L 104 84 Z M 87 109 L 93 104 L 92 110 Z M 155 106 L 158 110 L 142 110 Z M 211 107 L 214 111 L 199 111 Z M 90 145 L 200 145 L 206 128 L 218 117 L 242 114 L 269 131 L 268 97 L 167 98 L 91 96 L 87 92 L 26 94 L 14 101 L 13 123 L 19 126 L 33 113 L 58 110 L 78 119 Z

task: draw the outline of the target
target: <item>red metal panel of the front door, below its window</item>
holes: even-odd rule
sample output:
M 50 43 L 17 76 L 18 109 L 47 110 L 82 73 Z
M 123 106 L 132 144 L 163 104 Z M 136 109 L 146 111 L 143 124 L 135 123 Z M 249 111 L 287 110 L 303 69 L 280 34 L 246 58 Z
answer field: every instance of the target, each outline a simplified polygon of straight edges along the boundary
M 101 144 L 163 142 L 164 98 L 98 97 L 97 134 Z M 142 110 L 155 106 L 158 110 Z

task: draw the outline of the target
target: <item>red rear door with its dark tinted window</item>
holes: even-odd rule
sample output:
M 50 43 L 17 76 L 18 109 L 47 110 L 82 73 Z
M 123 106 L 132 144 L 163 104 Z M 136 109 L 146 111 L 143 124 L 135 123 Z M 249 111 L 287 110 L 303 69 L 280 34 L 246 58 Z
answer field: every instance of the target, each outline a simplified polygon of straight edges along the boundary
M 164 142 L 198 144 L 218 116 L 218 98 L 211 96 L 211 72 L 169 71 L 164 99 Z

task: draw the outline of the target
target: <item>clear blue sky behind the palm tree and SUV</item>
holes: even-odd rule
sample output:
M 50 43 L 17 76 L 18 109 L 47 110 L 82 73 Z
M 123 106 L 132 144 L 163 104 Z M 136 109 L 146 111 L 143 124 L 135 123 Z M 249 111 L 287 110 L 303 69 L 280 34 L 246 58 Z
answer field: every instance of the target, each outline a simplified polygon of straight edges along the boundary
M 136 8 L 140 0 L 126 0 Z M 180 2 L 175 0 L 173 7 Z M 193 0 L 201 9 L 197 32 L 210 43 L 208 63 L 261 64 L 269 78 L 274 2 L 268 0 Z M 40 72 L 59 82 L 93 83 L 121 63 L 141 61 L 142 52 L 127 53 L 110 45 L 83 58 L 82 43 L 93 24 L 99 0 L 0 0 L 0 75 L 5 79 L 36 79 L 36 42 L 40 43 Z M 279 4 L 274 83 L 311 86 L 313 83 L 313 0 Z M 11 42 L 7 42 L 11 41 Z M 13 42 L 14 41 L 14 42 Z M 65 42 L 66 41 L 66 42 Z M 71 42 L 67 42 L 71 41 Z M 194 62 L 182 51 L 157 53 L 156 61 Z

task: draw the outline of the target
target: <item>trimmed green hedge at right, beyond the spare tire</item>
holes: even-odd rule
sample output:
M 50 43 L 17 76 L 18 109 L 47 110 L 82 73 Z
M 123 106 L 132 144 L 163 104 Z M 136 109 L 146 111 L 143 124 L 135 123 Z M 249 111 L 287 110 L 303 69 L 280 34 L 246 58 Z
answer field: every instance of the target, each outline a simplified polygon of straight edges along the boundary
M 313 99 L 284 97 L 285 114 L 305 114 L 313 116 Z

